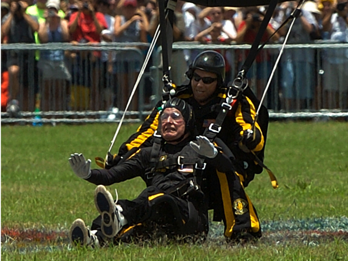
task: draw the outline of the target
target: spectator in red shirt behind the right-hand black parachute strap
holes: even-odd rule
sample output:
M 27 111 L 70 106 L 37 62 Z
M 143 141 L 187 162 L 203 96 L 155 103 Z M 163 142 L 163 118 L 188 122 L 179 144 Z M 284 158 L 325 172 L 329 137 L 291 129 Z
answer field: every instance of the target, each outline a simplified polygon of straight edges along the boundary
M 263 20 L 263 14 L 258 7 L 246 8 L 245 17 L 238 27 L 237 37 L 235 38 L 235 41 L 237 43 L 252 44 L 260 29 L 262 20 Z M 261 43 L 265 42 L 269 38 L 269 36 L 271 36 L 273 33 L 274 33 L 273 27 L 270 24 L 268 24 L 261 38 Z M 270 39 L 270 42 L 277 41 L 278 39 L 279 39 L 279 35 L 276 33 L 272 36 L 272 38 Z M 247 57 L 248 54 L 249 54 L 249 50 L 245 52 L 245 57 Z M 240 54 L 239 61 L 242 62 L 244 59 L 242 59 L 242 54 Z M 267 51 L 261 51 L 258 54 L 258 56 L 256 57 L 255 66 L 256 66 L 256 88 L 257 88 L 256 93 L 257 93 L 257 97 L 261 99 L 262 88 L 265 86 L 266 79 L 268 79 L 270 75 L 270 56 Z M 253 67 L 252 67 L 249 70 L 249 73 L 247 75 L 249 81 L 251 78 L 251 73 L 253 71 L 255 71 L 255 69 L 253 70 Z

